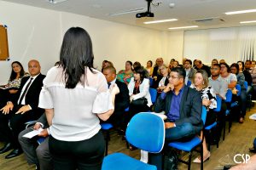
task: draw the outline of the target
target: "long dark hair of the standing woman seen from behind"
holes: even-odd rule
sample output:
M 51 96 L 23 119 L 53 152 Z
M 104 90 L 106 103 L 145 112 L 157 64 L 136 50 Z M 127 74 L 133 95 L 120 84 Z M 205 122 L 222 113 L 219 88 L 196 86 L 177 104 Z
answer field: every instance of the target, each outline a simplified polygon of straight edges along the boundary
M 72 27 L 67 30 L 61 45 L 61 66 L 65 72 L 66 88 L 75 88 L 81 82 L 84 75 L 86 84 L 86 69 L 92 70 L 94 55 L 92 43 L 87 31 L 80 27 Z

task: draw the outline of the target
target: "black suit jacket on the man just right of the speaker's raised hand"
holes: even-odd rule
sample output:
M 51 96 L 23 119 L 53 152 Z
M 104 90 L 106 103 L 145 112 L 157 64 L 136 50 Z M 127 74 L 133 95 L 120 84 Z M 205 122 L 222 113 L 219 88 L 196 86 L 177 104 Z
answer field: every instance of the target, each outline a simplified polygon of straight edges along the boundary
M 125 82 L 116 80 L 115 83 L 119 87 L 119 94 L 115 95 L 114 111 L 125 111 L 130 104 L 129 90 Z

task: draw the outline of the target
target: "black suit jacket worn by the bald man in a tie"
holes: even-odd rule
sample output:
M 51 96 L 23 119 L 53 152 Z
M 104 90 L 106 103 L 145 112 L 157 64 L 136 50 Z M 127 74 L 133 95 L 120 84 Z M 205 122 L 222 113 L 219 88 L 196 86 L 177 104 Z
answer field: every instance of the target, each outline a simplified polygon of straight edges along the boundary
M 41 73 L 38 75 L 38 77 L 32 82 L 31 86 L 28 88 L 25 96 L 25 104 L 30 105 L 32 107 L 32 110 L 38 109 L 38 100 L 39 100 L 39 94 L 41 92 L 41 89 L 43 87 L 43 80 L 44 75 Z M 26 81 L 29 80 L 30 77 L 23 77 L 20 82 L 20 88 L 17 92 L 16 98 L 11 99 L 14 105 L 17 105 L 18 99 L 20 98 L 20 93 L 24 85 L 26 84 Z

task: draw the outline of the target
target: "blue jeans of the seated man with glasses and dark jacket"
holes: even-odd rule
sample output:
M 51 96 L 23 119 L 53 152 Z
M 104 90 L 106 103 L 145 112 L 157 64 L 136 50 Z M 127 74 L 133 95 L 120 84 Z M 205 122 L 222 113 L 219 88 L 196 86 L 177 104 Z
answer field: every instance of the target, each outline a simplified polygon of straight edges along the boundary
M 191 123 L 185 122 L 180 126 L 166 128 L 166 144 L 172 141 L 192 139 L 196 135 Z M 166 146 L 168 147 L 168 146 Z M 165 148 L 163 149 L 165 150 Z M 149 153 L 149 164 L 155 165 L 157 170 L 163 169 L 163 150 L 160 153 Z

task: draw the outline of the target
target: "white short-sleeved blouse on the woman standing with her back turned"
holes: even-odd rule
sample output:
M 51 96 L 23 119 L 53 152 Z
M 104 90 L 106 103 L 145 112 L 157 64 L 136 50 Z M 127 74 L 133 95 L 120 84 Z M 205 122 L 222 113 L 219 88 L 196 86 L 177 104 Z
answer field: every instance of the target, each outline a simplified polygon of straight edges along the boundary
M 62 141 L 90 139 L 101 129 L 101 114 L 113 109 L 106 78 L 100 71 L 86 70 L 87 82 L 81 77 L 76 88 L 65 88 L 61 67 L 51 68 L 44 78 L 44 87 L 39 97 L 40 108 L 54 109 L 50 134 Z

